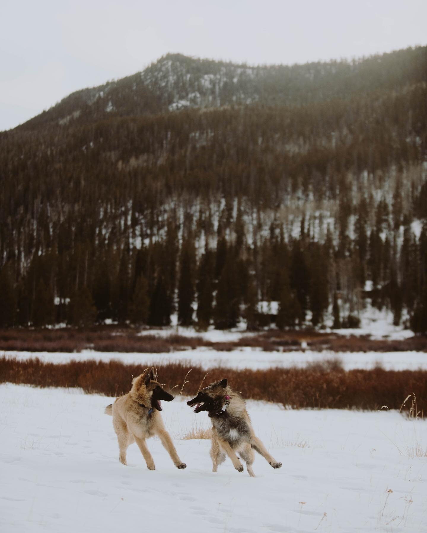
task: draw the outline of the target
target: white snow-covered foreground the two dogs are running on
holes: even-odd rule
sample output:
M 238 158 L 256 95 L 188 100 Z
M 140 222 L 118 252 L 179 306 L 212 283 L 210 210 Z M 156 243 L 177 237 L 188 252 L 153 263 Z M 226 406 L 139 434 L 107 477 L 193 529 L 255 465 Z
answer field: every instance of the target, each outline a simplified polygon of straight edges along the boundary
M 186 470 L 148 441 L 118 462 L 112 399 L 79 390 L 0 386 L 0 530 L 426 531 L 427 424 L 394 411 L 292 411 L 248 402 L 254 429 L 283 463 L 256 457 L 252 479 L 230 460 L 211 472 L 209 441 L 181 440 L 208 426 L 177 398 L 165 425 Z

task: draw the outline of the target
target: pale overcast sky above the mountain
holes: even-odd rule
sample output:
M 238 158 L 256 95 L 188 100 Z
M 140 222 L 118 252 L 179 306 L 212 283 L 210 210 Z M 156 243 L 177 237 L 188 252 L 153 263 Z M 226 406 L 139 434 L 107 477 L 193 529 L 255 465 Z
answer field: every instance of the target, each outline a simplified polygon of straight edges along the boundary
M 1 0 L 0 131 L 165 53 L 249 64 L 427 44 L 426 0 Z

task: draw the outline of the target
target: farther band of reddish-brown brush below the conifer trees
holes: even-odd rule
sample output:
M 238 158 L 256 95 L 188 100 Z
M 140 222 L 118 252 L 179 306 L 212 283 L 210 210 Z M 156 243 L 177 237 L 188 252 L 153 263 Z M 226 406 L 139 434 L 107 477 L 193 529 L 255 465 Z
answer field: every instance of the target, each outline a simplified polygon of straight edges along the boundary
M 234 342 L 211 342 L 201 337 L 171 334 L 156 336 L 156 330 L 138 335 L 131 326 L 94 326 L 92 328 L 59 329 L 3 329 L 0 330 L 0 351 L 80 352 L 92 349 L 99 352 L 161 353 L 195 350 L 205 346 L 218 351 L 231 351 L 244 346 L 264 351 L 301 350 L 302 343 L 314 351 L 335 352 L 391 352 L 427 351 L 426 337 L 411 337 L 404 341 L 373 341 L 367 336 L 344 337 L 315 330 L 269 329 L 258 335 L 243 336 Z

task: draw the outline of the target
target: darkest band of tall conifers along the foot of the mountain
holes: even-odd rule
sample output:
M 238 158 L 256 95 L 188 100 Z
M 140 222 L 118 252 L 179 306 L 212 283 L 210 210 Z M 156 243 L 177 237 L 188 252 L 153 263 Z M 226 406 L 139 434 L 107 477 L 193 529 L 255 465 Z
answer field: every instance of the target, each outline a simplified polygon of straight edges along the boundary
M 280 328 L 322 326 L 332 306 L 334 327 L 355 327 L 365 298 L 378 309 L 393 311 L 400 324 L 402 311 L 410 327 L 427 327 L 427 225 L 419 239 L 404 231 L 400 253 L 382 238 L 382 228 L 334 245 L 302 231 L 287 241 L 283 226 L 272 223 L 269 235 L 248 244 L 244 226 L 233 221 L 218 234 L 217 244 L 197 249 L 189 231 L 179 246 L 178 228 L 168 222 L 164 239 L 140 248 L 117 249 L 104 239 L 94 249 L 89 241 L 73 251 L 58 248 L 35 255 L 18 282 L 13 262 L 0 271 L 0 326 L 46 326 L 67 322 L 88 326 L 113 319 L 135 325 L 178 323 L 201 329 L 248 329 L 269 324 L 259 302 L 279 302 Z M 366 280 L 373 288 L 364 290 Z

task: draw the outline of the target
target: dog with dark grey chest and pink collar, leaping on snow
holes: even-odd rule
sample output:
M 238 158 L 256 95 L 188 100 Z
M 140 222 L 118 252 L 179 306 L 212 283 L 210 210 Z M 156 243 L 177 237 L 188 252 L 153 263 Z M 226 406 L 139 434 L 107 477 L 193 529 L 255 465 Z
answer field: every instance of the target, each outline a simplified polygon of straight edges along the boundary
M 243 465 L 236 452 L 246 463 L 248 474 L 255 478 L 252 463 L 255 459 L 254 449 L 262 455 L 273 468 L 280 468 L 272 455 L 268 453 L 263 443 L 256 437 L 251 426 L 248 411 L 242 395 L 227 386 L 227 379 L 211 383 L 202 389 L 192 400 L 187 401 L 190 407 L 196 406 L 194 413 L 208 411 L 212 422 L 212 472 L 218 471 L 218 465 L 225 461 L 227 454 L 233 462 L 234 468 L 243 472 Z

